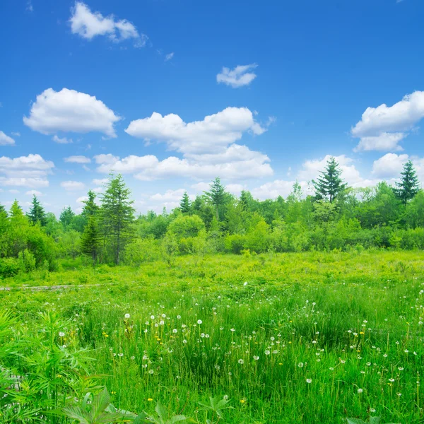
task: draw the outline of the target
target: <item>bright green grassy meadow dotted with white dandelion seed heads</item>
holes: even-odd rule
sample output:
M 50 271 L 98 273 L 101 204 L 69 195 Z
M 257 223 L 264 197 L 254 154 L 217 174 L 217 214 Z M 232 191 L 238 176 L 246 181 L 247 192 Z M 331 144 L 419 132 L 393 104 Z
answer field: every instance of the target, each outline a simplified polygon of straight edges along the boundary
M 423 423 L 423 259 L 76 261 L 3 280 L 2 422 L 74 423 L 61 408 L 105 385 L 117 408 L 154 415 L 160 402 L 196 423 Z M 202 405 L 211 396 L 233 408 L 220 418 Z

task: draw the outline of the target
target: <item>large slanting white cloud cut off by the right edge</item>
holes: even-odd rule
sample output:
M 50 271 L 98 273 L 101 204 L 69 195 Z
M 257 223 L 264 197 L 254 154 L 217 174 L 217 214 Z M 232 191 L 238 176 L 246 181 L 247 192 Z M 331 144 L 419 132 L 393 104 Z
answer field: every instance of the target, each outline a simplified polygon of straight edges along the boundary
M 384 103 L 367 107 L 362 119 L 352 128 L 354 137 L 360 138 L 357 150 L 396 151 L 397 143 L 404 139 L 424 117 L 424 91 L 406 95 L 392 106 Z

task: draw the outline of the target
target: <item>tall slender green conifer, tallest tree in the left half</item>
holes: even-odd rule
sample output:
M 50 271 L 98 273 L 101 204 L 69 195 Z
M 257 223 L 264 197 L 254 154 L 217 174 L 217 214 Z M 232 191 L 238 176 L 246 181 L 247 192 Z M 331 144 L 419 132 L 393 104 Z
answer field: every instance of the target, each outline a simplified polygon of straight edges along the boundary
M 114 261 L 119 264 L 122 250 L 131 239 L 131 224 L 134 222 L 134 201 L 129 200 L 130 190 L 122 175 L 110 175 L 102 194 L 101 222 L 105 237 L 112 242 Z

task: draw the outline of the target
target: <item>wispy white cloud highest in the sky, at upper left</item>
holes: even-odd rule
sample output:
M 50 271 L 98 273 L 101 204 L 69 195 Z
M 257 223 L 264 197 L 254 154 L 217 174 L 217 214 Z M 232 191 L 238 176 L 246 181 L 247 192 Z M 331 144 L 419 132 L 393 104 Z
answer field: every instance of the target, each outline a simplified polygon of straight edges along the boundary
M 139 34 L 137 28 L 129 20 L 115 20 L 113 15 L 102 16 L 100 12 L 92 12 L 81 1 L 76 1 L 71 8 L 71 31 L 86 40 L 92 40 L 98 35 L 106 35 L 113 42 L 134 40 L 135 47 L 144 47 L 148 40 L 147 35 Z

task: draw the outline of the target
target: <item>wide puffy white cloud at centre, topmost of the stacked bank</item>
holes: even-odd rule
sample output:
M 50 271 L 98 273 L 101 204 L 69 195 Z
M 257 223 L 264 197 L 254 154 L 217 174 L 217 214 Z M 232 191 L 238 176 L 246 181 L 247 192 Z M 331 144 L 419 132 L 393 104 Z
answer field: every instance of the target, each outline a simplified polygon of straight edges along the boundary
M 164 117 L 153 112 L 151 117 L 131 121 L 125 132 L 131 136 L 150 141 L 165 141 L 167 146 L 181 153 L 215 153 L 242 138 L 251 131 L 262 134 L 266 131 L 254 121 L 247 107 L 227 107 L 206 116 L 202 121 L 184 122 L 177 114 Z

